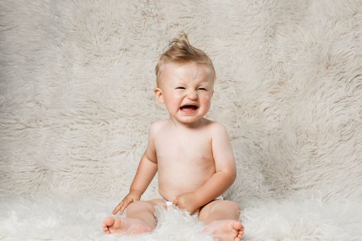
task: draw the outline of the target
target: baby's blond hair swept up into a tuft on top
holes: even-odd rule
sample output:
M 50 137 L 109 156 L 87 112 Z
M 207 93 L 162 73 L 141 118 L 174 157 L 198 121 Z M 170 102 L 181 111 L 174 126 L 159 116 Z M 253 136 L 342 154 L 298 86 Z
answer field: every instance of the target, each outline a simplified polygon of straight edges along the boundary
M 190 44 L 188 41 L 188 34 L 181 33 L 178 38 L 175 38 L 171 41 L 171 43 L 168 45 L 168 50 L 161 54 L 159 62 L 154 69 L 157 77 L 157 85 L 159 85 L 159 76 L 161 75 L 162 66 L 169 62 L 179 64 L 196 62 L 199 64 L 208 65 L 212 70 L 212 81 L 215 80 L 216 73 L 210 57 L 202 50 L 194 48 L 194 46 Z

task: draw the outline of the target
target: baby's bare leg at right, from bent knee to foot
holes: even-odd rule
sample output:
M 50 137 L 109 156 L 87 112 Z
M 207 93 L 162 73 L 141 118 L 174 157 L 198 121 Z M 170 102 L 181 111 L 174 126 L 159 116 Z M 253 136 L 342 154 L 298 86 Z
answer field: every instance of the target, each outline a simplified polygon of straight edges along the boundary
M 236 202 L 215 200 L 205 205 L 199 220 L 205 223 L 205 231 L 221 241 L 236 241 L 243 237 L 244 227 L 239 221 L 240 207 Z

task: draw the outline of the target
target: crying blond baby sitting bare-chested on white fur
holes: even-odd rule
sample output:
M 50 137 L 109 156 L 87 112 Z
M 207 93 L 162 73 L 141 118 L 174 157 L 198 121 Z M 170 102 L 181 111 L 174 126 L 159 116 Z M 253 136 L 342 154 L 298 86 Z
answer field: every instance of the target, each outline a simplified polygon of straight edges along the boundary
M 239 240 L 240 207 L 222 194 L 236 177 L 228 133 L 221 123 L 204 118 L 214 92 L 215 70 L 205 52 L 187 35 L 174 39 L 156 67 L 154 94 L 170 118 L 153 123 L 130 191 L 113 210 L 127 218 L 107 218 L 105 233 L 138 234 L 156 227 L 154 206 L 175 206 L 196 213 L 204 231 L 219 240 Z M 140 201 L 155 174 L 159 199 Z

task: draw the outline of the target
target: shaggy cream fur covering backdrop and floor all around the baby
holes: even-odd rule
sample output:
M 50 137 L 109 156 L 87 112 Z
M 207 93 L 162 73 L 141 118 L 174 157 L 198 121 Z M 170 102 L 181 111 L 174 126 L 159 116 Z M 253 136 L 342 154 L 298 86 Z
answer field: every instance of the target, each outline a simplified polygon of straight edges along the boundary
M 0 21 L 0 240 L 212 240 L 177 210 L 101 233 L 167 117 L 154 66 L 181 31 L 217 70 L 245 240 L 362 240 L 361 1 L 0 0 Z

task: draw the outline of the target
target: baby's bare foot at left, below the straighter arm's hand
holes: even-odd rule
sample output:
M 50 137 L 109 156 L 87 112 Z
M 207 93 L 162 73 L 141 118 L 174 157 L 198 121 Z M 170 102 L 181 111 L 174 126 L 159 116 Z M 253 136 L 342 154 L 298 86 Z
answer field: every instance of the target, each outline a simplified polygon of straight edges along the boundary
M 139 234 L 152 231 L 145 222 L 134 218 L 106 218 L 103 222 L 105 233 Z

